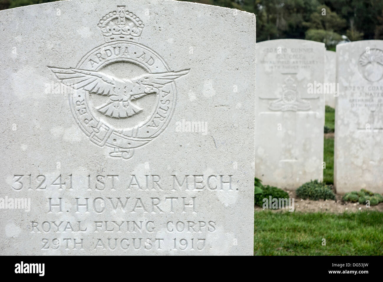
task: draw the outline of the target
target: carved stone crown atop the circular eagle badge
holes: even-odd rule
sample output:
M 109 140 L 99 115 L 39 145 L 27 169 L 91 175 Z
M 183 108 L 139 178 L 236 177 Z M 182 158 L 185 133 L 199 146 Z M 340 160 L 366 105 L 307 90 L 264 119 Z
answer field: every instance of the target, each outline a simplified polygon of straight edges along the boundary
M 129 12 L 125 6 L 117 6 L 118 11 L 107 13 L 97 26 L 101 29 L 106 42 L 115 40 L 137 41 L 144 24 L 141 19 Z

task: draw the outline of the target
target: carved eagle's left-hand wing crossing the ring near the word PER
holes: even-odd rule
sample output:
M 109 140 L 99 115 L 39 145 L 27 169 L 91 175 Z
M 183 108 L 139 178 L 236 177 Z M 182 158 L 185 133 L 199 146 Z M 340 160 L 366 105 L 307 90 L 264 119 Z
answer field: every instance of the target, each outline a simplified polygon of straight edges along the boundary
M 114 95 L 113 88 L 116 83 L 122 82 L 116 78 L 108 76 L 105 73 L 97 71 L 87 71 L 85 69 L 63 69 L 48 67 L 56 74 L 56 77 L 62 83 L 73 87 L 74 89 L 81 89 L 95 94 L 111 96 Z

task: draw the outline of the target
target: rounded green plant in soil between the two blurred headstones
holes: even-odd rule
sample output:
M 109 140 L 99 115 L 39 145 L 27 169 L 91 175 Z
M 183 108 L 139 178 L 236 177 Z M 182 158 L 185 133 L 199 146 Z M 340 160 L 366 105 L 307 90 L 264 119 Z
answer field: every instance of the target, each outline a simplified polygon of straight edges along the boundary
M 319 182 L 318 180 L 311 180 L 310 182 L 304 183 L 296 190 L 296 195 L 302 199 L 310 199 L 317 201 L 319 199 L 335 200 L 335 195 L 332 192 L 330 186 Z

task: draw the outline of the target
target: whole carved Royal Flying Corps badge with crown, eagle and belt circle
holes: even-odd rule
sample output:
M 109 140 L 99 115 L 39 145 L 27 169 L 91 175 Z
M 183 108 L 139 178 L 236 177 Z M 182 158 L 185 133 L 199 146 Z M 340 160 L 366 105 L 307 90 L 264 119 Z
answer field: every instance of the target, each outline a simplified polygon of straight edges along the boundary
M 98 23 L 106 43 L 75 68 L 48 68 L 74 89 L 70 110 L 89 140 L 111 148 L 110 157 L 127 160 L 165 130 L 175 109 L 175 80 L 189 69 L 171 70 L 159 54 L 139 44 L 144 24 L 125 6 L 117 7 Z M 145 100 L 146 109 L 138 99 Z

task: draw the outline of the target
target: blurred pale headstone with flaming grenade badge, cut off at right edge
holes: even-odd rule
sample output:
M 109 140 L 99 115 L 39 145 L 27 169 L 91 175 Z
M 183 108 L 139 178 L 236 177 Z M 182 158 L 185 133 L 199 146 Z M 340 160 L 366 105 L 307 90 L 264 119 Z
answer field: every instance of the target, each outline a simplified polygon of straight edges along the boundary
M 383 41 L 337 45 L 334 185 L 383 192 Z

